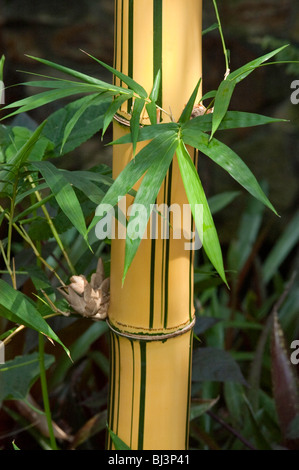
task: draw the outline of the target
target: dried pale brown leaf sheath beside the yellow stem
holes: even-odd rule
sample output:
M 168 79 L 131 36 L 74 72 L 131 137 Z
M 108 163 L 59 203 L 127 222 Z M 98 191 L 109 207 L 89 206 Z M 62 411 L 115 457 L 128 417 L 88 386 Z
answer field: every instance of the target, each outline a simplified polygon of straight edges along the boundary
M 99 259 L 97 270 L 92 274 L 90 283 L 83 274 L 72 276 L 70 281 L 69 286 L 58 288 L 70 306 L 84 317 L 105 320 L 110 301 L 110 280 L 105 279 L 102 259 Z

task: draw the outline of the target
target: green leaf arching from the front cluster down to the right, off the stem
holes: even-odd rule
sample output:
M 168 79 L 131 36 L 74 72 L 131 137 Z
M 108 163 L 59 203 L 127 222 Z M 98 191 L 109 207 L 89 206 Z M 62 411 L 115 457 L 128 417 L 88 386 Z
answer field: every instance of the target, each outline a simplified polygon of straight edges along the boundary
M 263 192 L 255 176 L 233 150 L 215 138 L 209 141 L 208 136 L 203 132 L 195 132 L 186 129 L 183 130 L 182 137 L 186 144 L 199 149 L 202 153 L 211 158 L 211 160 L 227 171 L 232 178 L 243 186 L 252 196 L 265 204 L 265 206 L 277 215 L 276 210 Z

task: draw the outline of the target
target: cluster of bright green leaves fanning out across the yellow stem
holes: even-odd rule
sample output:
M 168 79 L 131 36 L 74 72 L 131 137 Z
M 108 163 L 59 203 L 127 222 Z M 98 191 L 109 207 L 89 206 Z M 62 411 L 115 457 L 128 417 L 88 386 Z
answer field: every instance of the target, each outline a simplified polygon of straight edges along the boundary
M 202 222 L 203 248 L 221 279 L 227 283 L 220 242 L 212 214 L 202 182 L 186 146 L 194 147 L 198 149 L 199 152 L 209 157 L 217 165 L 221 166 L 226 172 L 228 172 L 231 177 L 234 178 L 252 196 L 260 200 L 276 213 L 271 202 L 268 200 L 248 166 L 231 148 L 220 142 L 215 137 L 215 133 L 217 130 L 259 126 L 277 121 L 277 119 L 258 114 L 229 111 L 229 104 L 236 85 L 244 80 L 256 68 L 264 65 L 269 61 L 269 59 L 282 51 L 285 47 L 286 46 L 280 47 L 268 54 L 265 54 L 228 74 L 228 76 L 226 76 L 220 83 L 217 90 L 209 92 L 201 100 L 210 100 L 208 107 L 213 104 L 213 113 L 190 119 L 198 93 L 200 84 L 199 79 L 185 109 L 182 110 L 178 122 L 163 122 L 162 118 L 162 122 L 159 123 L 157 123 L 156 101 L 161 85 L 160 73 L 157 74 L 153 89 L 148 95 L 142 85 L 136 83 L 132 78 L 92 56 L 90 56 L 92 59 L 107 68 L 125 85 L 111 85 L 97 78 L 90 77 L 48 60 L 32 57 L 32 59 L 72 77 L 72 80 L 60 78 L 49 79 L 49 77 L 44 77 L 44 80 L 25 83 L 25 85 L 28 86 L 46 88 L 47 91 L 8 104 L 4 108 L 5 110 L 9 110 L 11 108 L 17 108 L 17 110 L 8 114 L 6 118 L 15 116 L 19 113 L 31 111 L 58 99 L 75 96 L 77 94 L 87 94 L 87 96 L 82 99 L 80 106 L 78 106 L 76 112 L 65 126 L 61 145 L 61 151 L 63 152 L 64 147 L 71 138 L 72 131 L 76 126 L 76 123 L 90 107 L 102 106 L 103 104 L 107 105 L 102 122 L 102 134 L 104 135 L 107 127 L 113 120 L 115 113 L 121 105 L 127 100 L 133 100 L 134 105 L 131 112 L 130 133 L 127 137 L 114 141 L 112 144 L 119 145 L 131 142 L 134 158 L 116 178 L 100 202 L 102 204 L 115 206 L 119 197 L 126 195 L 133 188 L 135 183 L 143 177 L 134 201 L 136 204 L 138 203 L 143 205 L 147 210 L 147 217 L 143 218 L 141 221 L 142 226 L 140 227 L 140 232 L 142 232 L 142 230 L 145 230 L 146 228 L 153 204 L 169 166 L 173 158 L 177 158 L 188 201 L 195 220 L 195 225 L 200 227 Z M 140 126 L 140 119 L 144 108 L 146 108 L 148 112 L 151 124 L 142 127 Z M 27 147 L 37 141 L 44 126 L 45 123 L 36 130 L 31 140 L 28 141 Z M 149 143 L 143 147 L 142 150 L 136 153 L 137 142 L 148 140 Z M 14 157 L 20 164 L 24 161 L 26 149 L 22 152 L 23 156 L 18 155 Z M 11 161 L 10 164 L 14 164 L 16 161 L 15 159 Z M 89 232 L 95 226 L 99 218 L 95 216 L 90 225 L 86 227 L 79 201 L 76 200 L 75 193 L 70 184 L 66 184 L 69 183 L 67 173 L 54 169 L 49 162 L 35 162 L 31 165 L 35 170 L 41 172 L 62 211 L 67 214 L 72 224 L 87 241 Z M 6 170 L 2 171 L 2 186 L 4 184 L 3 181 L 9 181 L 11 175 L 12 173 L 9 173 Z M 88 193 L 91 192 L 90 188 Z M 198 220 L 198 214 L 195 210 L 197 204 L 203 205 L 203 221 Z M 127 233 L 132 232 L 129 230 L 130 224 L 132 223 L 134 223 L 134 221 L 130 219 L 128 221 Z M 124 278 L 136 254 L 140 241 L 141 239 L 139 237 L 133 239 L 127 235 L 123 271 Z

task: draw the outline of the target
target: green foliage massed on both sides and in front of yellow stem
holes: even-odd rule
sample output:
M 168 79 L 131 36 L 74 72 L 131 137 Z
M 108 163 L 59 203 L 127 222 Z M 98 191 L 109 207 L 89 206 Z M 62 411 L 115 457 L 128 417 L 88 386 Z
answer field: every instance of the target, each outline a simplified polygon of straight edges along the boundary
M 116 87 L 36 59 L 71 79 L 43 77 L 28 82 L 49 91 L 6 106 L 17 110 L 6 116 L 10 124 L 0 125 L 0 340 L 11 354 L 0 365 L 0 403 L 12 430 L 5 435 L 1 429 L 3 447 L 99 448 L 99 433 L 103 436 L 106 429 L 107 327 L 104 322 L 82 320 L 75 312 L 68 316 L 68 305 L 57 286 L 67 284 L 75 273 L 90 278 L 99 257 L 109 273 L 109 240 L 99 242 L 91 230 L 98 221 L 96 207 L 114 206 L 145 175 L 135 202 L 148 208 L 146 225 L 175 152 L 195 223 L 199 226 L 196 204 L 204 205 L 205 217 L 205 253 L 196 266 L 194 282 L 197 323 L 190 447 L 298 447 L 297 378 L 286 345 L 299 334 L 292 262 L 299 215 L 265 257 L 264 206 L 275 209 L 241 158 L 215 138 L 218 130 L 278 121 L 229 111 L 229 103 L 237 84 L 285 46 L 231 72 L 218 17 L 217 21 L 226 73 L 218 89 L 202 99 L 207 108 L 214 107 L 211 114 L 190 119 L 198 83 L 179 121 L 163 122 L 165 111 L 160 110 L 162 122 L 158 123 L 159 74 L 148 96 L 140 84 L 101 61 L 126 86 Z M 34 130 L 16 126 L 12 120 L 16 114 L 73 95 L 80 97 Z M 150 143 L 115 181 L 105 165 L 88 171 L 55 165 L 55 159 L 71 155 L 95 133 L 104 134 L 121 104 L 132 99 L 131 133 L 113 144 L 131 142 L 136 151 L 137 142 L 150 139 Z M 151 125 L 140 127 L 144 106 Z M 240 194 L 207 199 L 186 145 L 220 165 L 255 197 L 240 215 L 239 231 L 232 235 L 224 260 L 213 215 Z M 138 239 L 126 241 L 124 275 L 138 245 Z M 51 342 L 58 344 L 54 348 Z M 285 402 L 292 404 L 291 410 Z

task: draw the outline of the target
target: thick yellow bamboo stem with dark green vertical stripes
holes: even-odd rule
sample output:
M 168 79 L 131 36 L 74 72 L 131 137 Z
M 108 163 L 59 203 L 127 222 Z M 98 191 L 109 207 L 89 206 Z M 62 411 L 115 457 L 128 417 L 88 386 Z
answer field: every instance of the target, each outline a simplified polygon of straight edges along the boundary
M 116 0 L 115 68 L 150 93 L 158 70 L 163 121 L 177 121 L 201 77 L 201 0 Z M 116 79 L 117 85 L 122 85 Z M 200 96 L 199 96 L 200 97 Z M 199 98 L 198 97 L 198 98 Z M 114 139 L 129 132 L 132 103 L 113 124 Z M 146 124 L 145 120 L 142 124 Z M 139 151 L 145 143 L 138 144 Z M 195 158 L 193 149 L 188 149 Z M 132 146 L 113 148 L 113 178 L 132 159 Z M 138 189 L 138 184 L 135 189 Z M 120 202 L 127 214 L 132 198 Z M 156 234 L 148 226 L 125 282 L 125 240 L 111 246 L 111 376 L 108 425 L 131 449 L 188 447 L 191 387 L 193 251 L 186 249 L 187 197 L 174 157 L 162 184 Z M 169 236 L 165 216 L 170 211 Z M 178 211 L 179 210 L 179 211 Z M 161 214 L 162 212 L 162 214 Z M 176 214 L 175 214 L 176 212 Z M 179 213 L 179 215 L 178 215 Z M 117 224 L 116 224 L 117 225 Z M 176 227 L 181 232 L 173 236 Z M 187 229 L 192 230 L 192 221 Z M 187 230 L 188 231 L 188 230 Z M 162 235 L 164 233 L 164 235 Z M 113 448 L 108 436 L 107 448 Z

